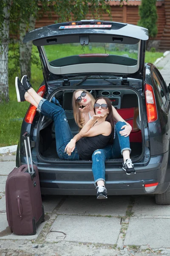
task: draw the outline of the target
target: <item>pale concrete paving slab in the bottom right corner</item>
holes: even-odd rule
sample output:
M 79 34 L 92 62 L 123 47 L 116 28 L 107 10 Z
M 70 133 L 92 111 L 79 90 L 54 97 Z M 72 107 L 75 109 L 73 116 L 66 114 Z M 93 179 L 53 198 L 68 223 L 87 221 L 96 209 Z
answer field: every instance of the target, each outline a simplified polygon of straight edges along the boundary
M 151 248 L 170 247 L 169 218 L 131 218 L 125 245 L 149 245 Z

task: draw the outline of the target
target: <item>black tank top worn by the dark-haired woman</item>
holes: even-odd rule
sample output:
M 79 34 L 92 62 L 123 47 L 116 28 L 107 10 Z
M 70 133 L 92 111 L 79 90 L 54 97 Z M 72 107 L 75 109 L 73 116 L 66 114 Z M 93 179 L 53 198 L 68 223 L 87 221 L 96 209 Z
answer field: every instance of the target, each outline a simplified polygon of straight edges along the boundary
M 91 160 L 92 154 L 95 150 L 105 148 L 108 144 L 112 144 L 112 134 L 104 136 L 99 134 L 94 137 L 83 137 L 76 143 L 77 152 L 82 160 Z

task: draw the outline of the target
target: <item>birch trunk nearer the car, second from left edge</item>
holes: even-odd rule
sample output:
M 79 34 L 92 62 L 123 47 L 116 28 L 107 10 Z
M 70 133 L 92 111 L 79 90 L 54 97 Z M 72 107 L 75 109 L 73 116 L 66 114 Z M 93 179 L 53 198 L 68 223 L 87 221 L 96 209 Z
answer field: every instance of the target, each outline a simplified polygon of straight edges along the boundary
M 29 19 L 29 30 L 35 28 L 35 17 Z M 31 52 L 32 52 L 32 41 L 23 44 L 23 38 L 26 35 L 27 27 L 25 23 L 20 23 L 20 74 L 21 78 L 27 75 L 31 78 Z

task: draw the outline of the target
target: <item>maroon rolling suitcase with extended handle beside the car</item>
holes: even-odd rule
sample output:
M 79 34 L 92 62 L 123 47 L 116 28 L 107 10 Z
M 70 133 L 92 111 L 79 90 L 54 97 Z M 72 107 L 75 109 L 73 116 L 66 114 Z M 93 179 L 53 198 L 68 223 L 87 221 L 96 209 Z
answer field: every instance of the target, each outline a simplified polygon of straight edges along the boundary
M 14 168 L 6 180 L 6 215 L 11 232 L 35 235 L 37 226 L 45 220 L 37 166 L 32 164 L 29 135 L 23 135 L 27 165 Z M 28 161 L 28 150 L 31 165 Z

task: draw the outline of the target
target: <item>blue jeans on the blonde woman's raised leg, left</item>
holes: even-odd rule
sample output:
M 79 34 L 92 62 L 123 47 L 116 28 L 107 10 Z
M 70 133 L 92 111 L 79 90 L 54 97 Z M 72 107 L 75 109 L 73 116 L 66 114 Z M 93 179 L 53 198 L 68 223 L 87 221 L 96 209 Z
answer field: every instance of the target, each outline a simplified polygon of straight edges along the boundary
M 47 116 L 54 120 L 55 136 L 56 136 L 56 148 L 59 158 L 67 160 L 79 160 L 79 154 L 77 149 L 71 153 L 71 156 L 64 151 L 66 145 L 73 139 L 70 127 L 68 125 L 67 117 L 64 109 L 59 105 L 49 102 L 46 99 L 42 99 L 37 107 L 37 111 L 42 115 Z

